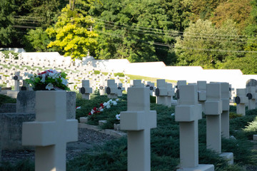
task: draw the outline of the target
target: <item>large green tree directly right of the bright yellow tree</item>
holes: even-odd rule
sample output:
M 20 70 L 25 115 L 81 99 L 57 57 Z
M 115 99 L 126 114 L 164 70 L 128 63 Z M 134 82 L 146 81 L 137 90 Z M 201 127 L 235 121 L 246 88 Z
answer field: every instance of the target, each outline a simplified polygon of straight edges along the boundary
M 183 31 L 188 24 L 186 0 L 180 1 L 96 1 L 91 15 L 99 33 L 97 58 L 128 58 L 131 62 L 164 61 L 174 56 L 168 44 L 175 40 L 173 29 Z

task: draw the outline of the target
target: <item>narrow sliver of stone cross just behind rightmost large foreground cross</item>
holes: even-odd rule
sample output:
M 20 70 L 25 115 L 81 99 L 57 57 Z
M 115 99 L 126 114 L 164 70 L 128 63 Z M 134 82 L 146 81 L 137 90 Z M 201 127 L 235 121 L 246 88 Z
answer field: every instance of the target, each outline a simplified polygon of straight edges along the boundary
M 229 83 L 221 83 L 221 133 L 224 138 L 229 138 Z

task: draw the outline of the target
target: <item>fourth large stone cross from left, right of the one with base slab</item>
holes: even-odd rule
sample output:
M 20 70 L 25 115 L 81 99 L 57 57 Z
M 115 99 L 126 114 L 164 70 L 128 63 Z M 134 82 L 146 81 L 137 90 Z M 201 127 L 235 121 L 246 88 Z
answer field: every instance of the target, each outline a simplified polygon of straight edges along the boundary
M 207 84 L 205 107 L 207 148 L 221 153 L 221 83 Z

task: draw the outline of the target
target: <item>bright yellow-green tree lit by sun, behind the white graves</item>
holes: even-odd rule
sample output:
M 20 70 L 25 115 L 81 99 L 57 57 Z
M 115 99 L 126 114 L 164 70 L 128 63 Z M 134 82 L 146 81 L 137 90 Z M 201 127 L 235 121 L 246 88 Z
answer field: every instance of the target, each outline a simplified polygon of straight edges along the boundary
M 46 29 L 49 36 L 55 39 L 49 43 L 48 48 L 55 48 L 64 56 L 81 59 L 96 48 L 98 34 L 92 31 L 93 24 L 91 16 L 84 16 L 79 10 L 67 5 L 61 10 L 61 16 L 54 27 Z

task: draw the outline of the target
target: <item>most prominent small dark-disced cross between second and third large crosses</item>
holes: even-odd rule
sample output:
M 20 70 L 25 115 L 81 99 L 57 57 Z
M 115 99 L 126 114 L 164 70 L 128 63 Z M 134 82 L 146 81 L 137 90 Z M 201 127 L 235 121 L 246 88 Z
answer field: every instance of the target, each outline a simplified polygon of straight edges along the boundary
M 166 88 L 166 82 L 164 79 L 157 80 L 157 88 L 155 91 L 156 103 L 160 105 L 166 105 L 166 97 L 168 95 L 168 90 Z

